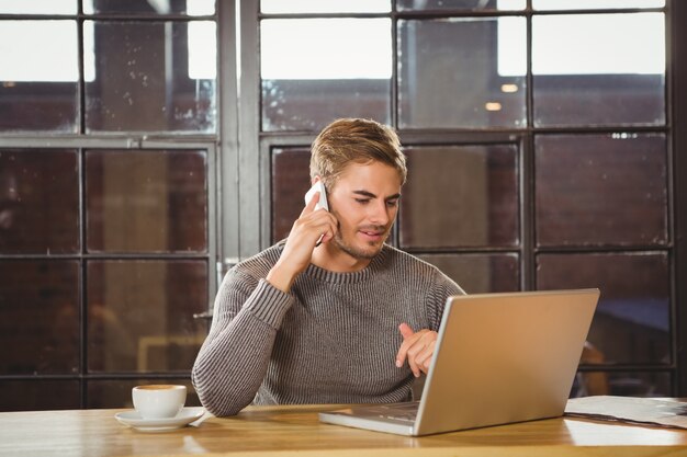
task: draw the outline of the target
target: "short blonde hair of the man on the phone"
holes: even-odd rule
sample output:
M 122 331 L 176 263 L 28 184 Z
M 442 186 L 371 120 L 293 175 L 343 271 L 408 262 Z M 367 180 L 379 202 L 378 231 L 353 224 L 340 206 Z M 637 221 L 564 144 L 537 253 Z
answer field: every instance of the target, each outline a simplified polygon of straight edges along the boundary
M 334 187 L 350 163 L 382 162 L 393 167 L 404 184 L 408 170 L 396 133 L 376 121 L 341 118 L 326 126 L 311 147 L 311 180 L 319 176 Z

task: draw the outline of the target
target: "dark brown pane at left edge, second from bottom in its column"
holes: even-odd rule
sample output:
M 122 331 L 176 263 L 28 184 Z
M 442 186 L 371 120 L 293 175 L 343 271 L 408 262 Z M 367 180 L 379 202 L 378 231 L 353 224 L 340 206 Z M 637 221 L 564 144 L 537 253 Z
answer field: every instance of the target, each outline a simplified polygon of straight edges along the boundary
M 79 263 L 0 262 L 0 373 L 79 370 Z

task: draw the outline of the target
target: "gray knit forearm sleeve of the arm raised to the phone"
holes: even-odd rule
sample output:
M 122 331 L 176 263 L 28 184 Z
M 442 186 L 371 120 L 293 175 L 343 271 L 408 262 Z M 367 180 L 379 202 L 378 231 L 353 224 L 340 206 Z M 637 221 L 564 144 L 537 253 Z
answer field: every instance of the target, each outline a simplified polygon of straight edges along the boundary
M 230 271 L 217 293 L 210 333 L 191 378 L 201 403 L 217 416 L 254 400 L 267 373 L 277 330 L 294 298 L 266 279 Z

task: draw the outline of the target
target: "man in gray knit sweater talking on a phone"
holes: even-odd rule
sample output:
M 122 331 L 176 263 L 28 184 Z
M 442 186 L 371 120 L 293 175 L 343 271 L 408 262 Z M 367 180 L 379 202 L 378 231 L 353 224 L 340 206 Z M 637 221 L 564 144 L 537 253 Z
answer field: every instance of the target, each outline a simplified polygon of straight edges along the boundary
M 396 134 L 339 119 L 312 146 L 316 193 L 285 241 L 225 276 L 192 377 L 215 415 L 279 403 L 412 399 L 447 297 L 438 269 L 385 244 L 406 180 Z M 319 242 L 322 241 L 322 244 Z

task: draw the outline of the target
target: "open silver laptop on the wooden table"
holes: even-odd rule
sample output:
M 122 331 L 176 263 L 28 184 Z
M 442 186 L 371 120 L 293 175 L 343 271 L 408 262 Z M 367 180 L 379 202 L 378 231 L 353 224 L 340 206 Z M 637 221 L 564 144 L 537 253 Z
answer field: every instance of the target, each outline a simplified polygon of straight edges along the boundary
M 561 416 L 598 298 L 596 288 L 449 297 L 419 401 L 319 421 L 421 436 Z

